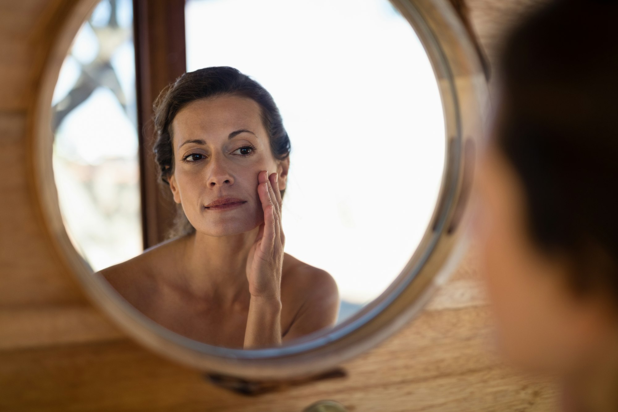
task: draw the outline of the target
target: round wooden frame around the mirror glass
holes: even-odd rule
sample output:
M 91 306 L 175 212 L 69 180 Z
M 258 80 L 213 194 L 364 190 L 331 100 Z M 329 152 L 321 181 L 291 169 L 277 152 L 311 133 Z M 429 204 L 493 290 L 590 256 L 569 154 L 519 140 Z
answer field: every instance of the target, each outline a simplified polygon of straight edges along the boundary
M 35 201 L 57 253 L 96 307 L 127 335 L 167 358 L 203 371 L 257 380 L 327 371 L 377 345 L 420 311 L 467 246 L 465 205 L 472 184 L 475 147 L 482 138 L 488 111 L 483 62 L 451 3 L 391 0 L 412 25 L 430 58 L 446 126 L 446 157 L 438 203 L 417 250 L 387 290 L 336 327 L 279 348 L 237 350 L 183 337 L 138 312 L 103 278 L 93 276 L 64 227 L 52 165 L 51 100 L 62 62 L 98 1 L 76 1 L 62 22 L 45 62 L 28 135 Z

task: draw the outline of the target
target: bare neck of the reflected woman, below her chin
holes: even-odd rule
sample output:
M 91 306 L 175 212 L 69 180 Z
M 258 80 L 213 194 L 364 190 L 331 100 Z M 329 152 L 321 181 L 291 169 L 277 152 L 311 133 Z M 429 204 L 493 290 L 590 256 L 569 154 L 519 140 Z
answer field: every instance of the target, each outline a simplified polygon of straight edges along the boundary
M 247 257 L 258 228 L 231 236 L 214 237 L 195 232 L 184 243 L 175 281 L 191 295 L 232 304 L 248 294 Z

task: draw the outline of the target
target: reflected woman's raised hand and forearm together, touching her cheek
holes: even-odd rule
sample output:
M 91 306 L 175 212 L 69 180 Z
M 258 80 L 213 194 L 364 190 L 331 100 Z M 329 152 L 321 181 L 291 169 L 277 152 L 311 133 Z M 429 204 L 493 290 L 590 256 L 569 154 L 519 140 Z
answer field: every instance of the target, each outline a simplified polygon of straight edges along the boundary
M 245 348 L 281 345 L 281 272 L 286 238 L 281 229 L 281 192 L 277 173 L 258 174 L 264 223 L 247 257 L 251 301 Z

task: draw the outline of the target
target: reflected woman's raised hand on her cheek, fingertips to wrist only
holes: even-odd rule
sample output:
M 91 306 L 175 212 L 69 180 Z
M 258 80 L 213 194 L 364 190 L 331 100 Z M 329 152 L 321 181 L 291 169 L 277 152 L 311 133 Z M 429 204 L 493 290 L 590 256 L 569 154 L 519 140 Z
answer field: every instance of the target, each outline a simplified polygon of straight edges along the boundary
M 258 174 L 258 195 L 264 212 L 264 223 L 249 251 L 247 280 L 251 296 L 281 299 L 281 270 L 286 238 L 281 229 L 281 192 L 277 173 Z

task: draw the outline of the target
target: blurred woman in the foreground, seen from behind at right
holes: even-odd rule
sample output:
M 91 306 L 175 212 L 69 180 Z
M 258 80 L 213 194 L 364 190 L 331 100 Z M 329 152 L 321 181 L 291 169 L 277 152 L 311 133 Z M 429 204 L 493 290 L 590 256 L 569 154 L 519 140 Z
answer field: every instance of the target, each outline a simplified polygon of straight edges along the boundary
M 508 36 L 478 170 L 483 272 L 512 364 L 569 411 L 618 411 L 618 4 L 562 0 Z

